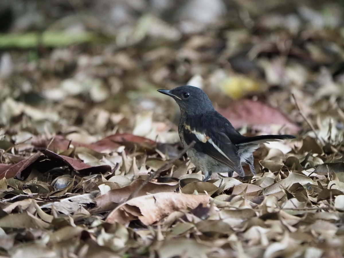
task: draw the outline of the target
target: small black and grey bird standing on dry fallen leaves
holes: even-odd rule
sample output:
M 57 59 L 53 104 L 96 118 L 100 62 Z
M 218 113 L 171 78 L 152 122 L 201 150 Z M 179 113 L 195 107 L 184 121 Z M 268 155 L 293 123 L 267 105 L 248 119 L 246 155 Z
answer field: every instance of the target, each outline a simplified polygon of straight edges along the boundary
M 260 143 L 296 138 L 293 135 L 241 135 L 214 109 L 200 88 L 184 85 L 171 90 L 159 89 L 158 92 L 172 97 L 179 105 L 179 137 L 190 161 L 204 173 L 203 182 L 208 181 L 212 173 L 228 173 L 228 177 L 232 177 L 235 171 L 244 177 L 242 164 L 245 163 L 256 175 L 252 153 Z

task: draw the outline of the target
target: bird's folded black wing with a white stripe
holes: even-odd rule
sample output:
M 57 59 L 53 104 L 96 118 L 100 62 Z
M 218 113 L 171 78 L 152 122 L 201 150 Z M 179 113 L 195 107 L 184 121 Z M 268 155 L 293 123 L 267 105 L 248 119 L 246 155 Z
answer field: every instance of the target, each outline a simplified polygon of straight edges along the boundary
M 237 148 L 224 132 L 200 132 L 184 124 L 184 139 L 187 144 L 195 141 L 194 148 L 227 165 L 231 170 L 244 176 Z M 216 171 L 213 171 L 216 172 Z

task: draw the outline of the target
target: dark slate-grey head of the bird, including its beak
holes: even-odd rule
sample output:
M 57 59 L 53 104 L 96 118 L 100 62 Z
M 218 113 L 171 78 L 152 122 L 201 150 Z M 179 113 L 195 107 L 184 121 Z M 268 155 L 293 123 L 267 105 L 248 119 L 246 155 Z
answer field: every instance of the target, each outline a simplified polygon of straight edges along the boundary
M 202 114 L 214 109 L 205 92 L 194 86 L 180 86 L 171 90 L 158 89 L 158 92 L 171 96 L 180 110 L 188 114 Z

